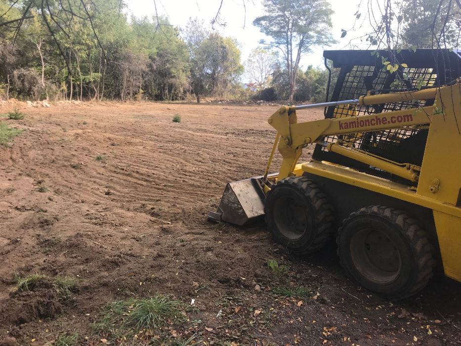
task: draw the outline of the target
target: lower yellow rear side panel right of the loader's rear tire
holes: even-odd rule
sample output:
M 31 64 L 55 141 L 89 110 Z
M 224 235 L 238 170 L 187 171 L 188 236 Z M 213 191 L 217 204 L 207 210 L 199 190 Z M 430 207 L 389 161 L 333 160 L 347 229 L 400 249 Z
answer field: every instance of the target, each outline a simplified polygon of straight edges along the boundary
M 434 211 L 445 275 L 461 281 L 461 218 Z

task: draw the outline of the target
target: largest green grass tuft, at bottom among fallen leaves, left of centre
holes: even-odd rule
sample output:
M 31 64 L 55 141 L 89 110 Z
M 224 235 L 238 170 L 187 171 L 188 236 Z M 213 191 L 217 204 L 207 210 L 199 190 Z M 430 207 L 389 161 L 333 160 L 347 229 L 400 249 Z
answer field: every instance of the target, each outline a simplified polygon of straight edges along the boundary
M 160 294 L 150 298 L 117 301 L 102 309 L 102 318 L 93 324 L 93 328 L 116 337 L 140 330 L 159 330 L 170 323 L 183 322 L 184 309 L 184 303 Z

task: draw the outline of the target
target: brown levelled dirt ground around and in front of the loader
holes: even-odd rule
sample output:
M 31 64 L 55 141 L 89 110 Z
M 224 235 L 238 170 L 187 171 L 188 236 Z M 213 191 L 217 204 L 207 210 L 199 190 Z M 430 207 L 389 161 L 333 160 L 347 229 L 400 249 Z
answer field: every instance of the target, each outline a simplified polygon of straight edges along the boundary
M 162 330 L 171 345 L 461 345 L 459 283 L 439 275 L 418 296 L 389 302 L 344 276 L 333 243 L 299 258 L 263 223 L 207 220 L 226 182 L 263 172 L 276 109 L 57 104 L 2 118 L 24 131 L 0 147 L 0 345 L 74 331 L 82 345 L 142 343 L 92 324 L 109 302 L 156 293 L 195 299 L 183 324 Z M 289 272 L 274 273 L 270 259 Z M 65 300 L 49 287 L 18 294 L 15 273 L 71 276 L 79 286 Z M 274 294 L 280 287 L 309 294 Z

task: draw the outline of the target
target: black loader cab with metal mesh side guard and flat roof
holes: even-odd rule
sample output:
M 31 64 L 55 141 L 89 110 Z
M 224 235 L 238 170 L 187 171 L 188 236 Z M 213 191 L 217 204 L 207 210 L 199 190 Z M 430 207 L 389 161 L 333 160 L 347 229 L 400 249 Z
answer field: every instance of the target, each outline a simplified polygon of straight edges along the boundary
M 383 60 L 404 62 L 408 67 L 400 68 L 389 74 L 383 68 Z M 327 90 L 327 100 L 339 101 L 358 98 L 361 95 L 382 94 L 401 91 L 403 89 L 422 89 L 425 87 L 443 86 L 461 76 L 461 51 L 448 49 L 402 49 L 400 52 L 387 50 L 326 50 L 325 61 L 333 63 L 337 74 L 334 87 Z M 326 66 L 329 66 L 326 63 Z M 331 74 L 332 76 L 332 74 Z M 331 77 L 330 76 L 330 77 Z M 434 100 L 386 103 L 373 106 L 353 106 L 353 110 L 341 106 L 328 107 L 326 118 L 343 118 L 373 113 L 415 108 L 415 106 L 432 105 Z M 422 165 L 424 147 L 428 129 L 399 128 L 372 133 L 354 133 L 348 135 L 348 143 L 365 152 L 384 157 L 395 162 L 408 162 Z M 327 142 L 336 142 L 337 136 L 325 137 Z M 399 177 L 376 170 L 373 167 L 350 160 L 341 155 L 329 152 L 325 147 L 317 145 L 313 159 L 328 161 L 361 172 L 384 177 L 390 180 L 409 183 Z

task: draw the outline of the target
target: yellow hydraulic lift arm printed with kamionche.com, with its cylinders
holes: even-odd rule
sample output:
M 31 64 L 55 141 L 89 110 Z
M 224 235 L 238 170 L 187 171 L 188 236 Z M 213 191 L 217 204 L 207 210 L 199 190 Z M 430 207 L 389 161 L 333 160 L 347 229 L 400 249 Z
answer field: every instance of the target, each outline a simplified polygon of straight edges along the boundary
M 344 101 L 332 103 L 345 104 L 346 107 L 349 106 L 353 109 L 355 107 L 354 103 L 359 105 L 374 105 L 385 102 L 427 100 L 436 98 L 437 90 L 437 88 L 430 88 L 414 92 L 368 95 L 361 96 L 358 100 L 349 100 L 351 102 L 349 104 L 345 104 Z M 293 175 L 293 170 L 302 153 L 302 148 L 307 144 L 317 143 L 325 145 L 328 150 L 337 154 L 373 165 L 407 180 L 418 181 L 418 172 L 420 169 L 416 165 L 392 162 L 335 143 L 322 143 L 322 138 L 331 134 L 341 135 L 351 132 L 369 132 L 427 125 L 430 122 L 429 116 L 438 112 L 436 104 L 437 102 L 435 105 L 420 108 L 370 114 L 361 117 L 322 119 L 306 123 L 297 123 L 296 110 L 311 108 L 317 105 L 283 106 L 268 120 L 269 124 L 278 132 L 276 140 L 281 139 L 278 148 L 283 156 L 283 161 L 277 179 Z M 272 158 L 269 159 L 270 161 L 272 161 Z M 268 172 L 268 167 L 266 168 L 266 172 Z

